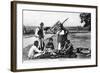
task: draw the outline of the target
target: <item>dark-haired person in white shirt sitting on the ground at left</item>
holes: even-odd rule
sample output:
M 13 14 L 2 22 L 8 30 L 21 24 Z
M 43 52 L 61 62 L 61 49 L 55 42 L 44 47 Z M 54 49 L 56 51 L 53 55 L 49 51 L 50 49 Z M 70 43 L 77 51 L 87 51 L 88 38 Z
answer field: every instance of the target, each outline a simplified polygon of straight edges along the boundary
M 28 58 L 32 59 L 42 54 L 42 51 L 38 49 L 39 42 L 34 41 L 34 45 L 29 49 Z

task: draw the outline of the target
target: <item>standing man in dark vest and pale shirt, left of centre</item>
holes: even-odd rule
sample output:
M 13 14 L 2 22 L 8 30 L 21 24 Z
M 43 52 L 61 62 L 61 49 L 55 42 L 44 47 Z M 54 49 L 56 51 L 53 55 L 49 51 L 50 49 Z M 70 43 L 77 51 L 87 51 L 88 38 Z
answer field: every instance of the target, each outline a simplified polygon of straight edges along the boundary
M 44 44 L 44 35 L 45 35 L 45 33 L 44 33 L 44 28 L 43 28 L 43 26 L 44 26 L 44 23 L 43 22 L 41 22 L 41 24 L 40 24 L 40 29 L 39 29 L 39 31 L 38 31 L 38 35 L 39 35 L 39 40 L 40 40 L 40 50 L 44 50 L 44 46 L 45 46 L 45 44 Z

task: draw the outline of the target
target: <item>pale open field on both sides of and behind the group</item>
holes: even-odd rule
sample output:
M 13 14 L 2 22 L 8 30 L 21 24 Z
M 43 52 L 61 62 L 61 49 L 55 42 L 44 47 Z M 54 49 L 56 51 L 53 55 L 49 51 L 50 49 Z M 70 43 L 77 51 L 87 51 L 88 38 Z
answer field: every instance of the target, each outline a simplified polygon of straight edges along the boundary
M 54 34 L 46 34 L 45 38 L 51 37 Z M 23 60 L 27 60 L 28 57 L 28 51 L 30 47 L 33 45 L 34 42 L 34 35 L 24 35 L 23 36 Z M 90 32 L 75 32 L 75 33 L 69 33 L 68 39 L 73 44 L 74 49 L 76 48 L 89 48 L 91 49 L 91 33 Z M 45 44 L 48 42 L 48 40 L 45 40 Z M 53 37 L 53 43 L 55 46 L 55 49 L 57 49 L 57 35 Z

